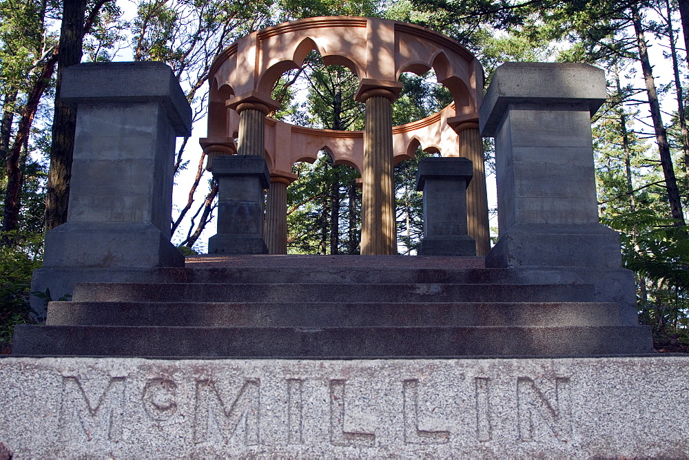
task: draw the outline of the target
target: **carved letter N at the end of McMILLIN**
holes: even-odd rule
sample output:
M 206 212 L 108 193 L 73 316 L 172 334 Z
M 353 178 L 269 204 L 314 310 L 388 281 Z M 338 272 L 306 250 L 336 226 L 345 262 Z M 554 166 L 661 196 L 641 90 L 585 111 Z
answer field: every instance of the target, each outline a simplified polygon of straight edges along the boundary
M 517 421 L 522 441 L 533 441 L 534 433 L 551 432 L 560 441 L 572 435 L 572 404 L 569 379 L 555 379 L 555 393 L 546 397 L 528 377 L 517 379 Z

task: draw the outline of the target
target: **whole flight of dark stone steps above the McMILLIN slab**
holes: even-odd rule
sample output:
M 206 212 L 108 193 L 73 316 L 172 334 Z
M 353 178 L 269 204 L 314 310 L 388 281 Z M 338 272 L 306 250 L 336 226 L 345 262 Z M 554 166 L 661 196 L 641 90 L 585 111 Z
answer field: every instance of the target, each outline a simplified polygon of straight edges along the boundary
M 83 283 L 14 355 L 354 359 L 652 353 L 588 284 L 517 284 L 482 258 L 225 256 Z

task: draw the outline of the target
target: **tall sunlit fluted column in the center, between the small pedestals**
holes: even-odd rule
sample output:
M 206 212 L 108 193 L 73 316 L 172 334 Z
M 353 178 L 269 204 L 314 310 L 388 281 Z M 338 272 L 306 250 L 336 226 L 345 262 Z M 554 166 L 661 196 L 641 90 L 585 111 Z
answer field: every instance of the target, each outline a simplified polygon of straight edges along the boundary
M 367 90 L 361 97 L 366 103 L 361 206 L 362 255 L 397 253 L 391 107 L 394 98 L 395 94 L 384 88 Z

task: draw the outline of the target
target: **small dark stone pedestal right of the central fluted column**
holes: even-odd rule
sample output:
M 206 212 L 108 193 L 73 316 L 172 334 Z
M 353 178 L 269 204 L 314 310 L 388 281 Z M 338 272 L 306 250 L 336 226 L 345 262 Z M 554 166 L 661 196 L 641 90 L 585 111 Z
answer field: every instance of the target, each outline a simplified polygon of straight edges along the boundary
M 473 167 L 466 158 L 423 158 L 416 189 L 424 192 L 424 238 L 419 255 L 476 255 L 466 234 L 466 187 Z

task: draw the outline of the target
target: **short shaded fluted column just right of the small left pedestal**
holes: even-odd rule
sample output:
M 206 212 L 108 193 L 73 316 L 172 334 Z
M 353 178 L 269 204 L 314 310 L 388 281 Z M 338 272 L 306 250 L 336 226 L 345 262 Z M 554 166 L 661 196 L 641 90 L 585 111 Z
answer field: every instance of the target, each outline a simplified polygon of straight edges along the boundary
M 271 174 L 263 230 L 269 254 L 287 254 L 287 186 L 294 179 Z

